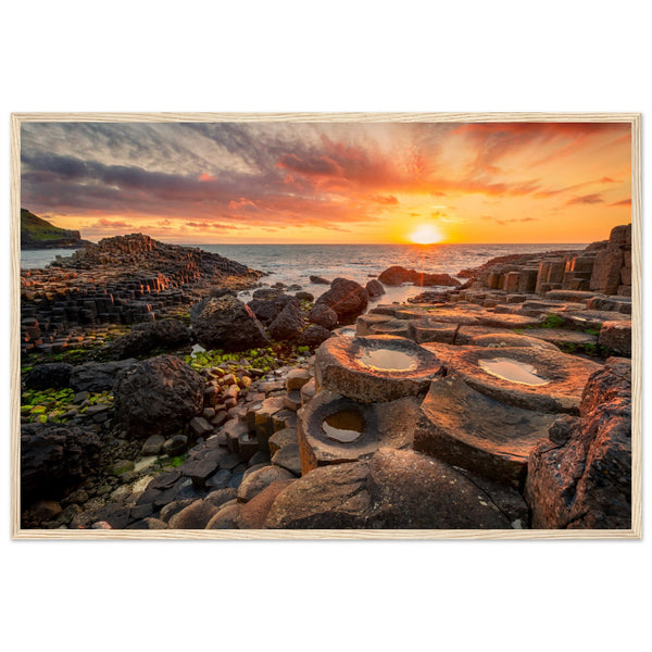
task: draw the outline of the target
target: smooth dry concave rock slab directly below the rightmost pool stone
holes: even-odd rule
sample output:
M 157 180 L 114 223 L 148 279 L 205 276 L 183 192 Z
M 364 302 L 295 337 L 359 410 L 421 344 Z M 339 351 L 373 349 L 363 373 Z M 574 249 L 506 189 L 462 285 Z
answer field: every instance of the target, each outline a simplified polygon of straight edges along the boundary
M 556 414 L 506 405 L 457 375 L 432 381 L 414 434 L 414 449 L 499 482 L 522 486 L 534 447 Z

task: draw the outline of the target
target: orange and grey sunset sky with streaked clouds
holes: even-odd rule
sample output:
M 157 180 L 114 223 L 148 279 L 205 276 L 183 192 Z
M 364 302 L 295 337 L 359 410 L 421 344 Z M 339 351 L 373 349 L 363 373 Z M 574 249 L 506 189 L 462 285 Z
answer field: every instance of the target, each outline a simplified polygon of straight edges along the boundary
M 23 123 L 22 206 L 179 243 L 591 242 L 631 221 L 618 123 Z

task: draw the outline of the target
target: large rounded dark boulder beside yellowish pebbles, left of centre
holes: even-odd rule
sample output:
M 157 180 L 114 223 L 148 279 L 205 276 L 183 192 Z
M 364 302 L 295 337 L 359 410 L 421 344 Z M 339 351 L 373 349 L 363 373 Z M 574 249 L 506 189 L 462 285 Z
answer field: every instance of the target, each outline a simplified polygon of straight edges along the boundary
M 159 355 L 121 372 L 114 411 L 136 437 L 173 432 L 203 409 L 203 378 L 174 355 Z

